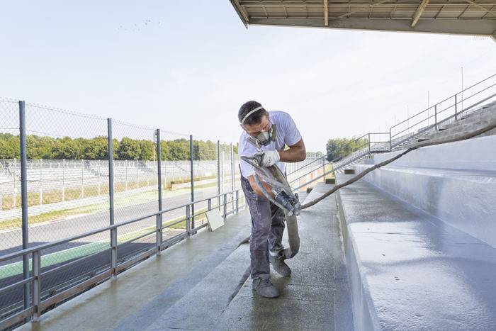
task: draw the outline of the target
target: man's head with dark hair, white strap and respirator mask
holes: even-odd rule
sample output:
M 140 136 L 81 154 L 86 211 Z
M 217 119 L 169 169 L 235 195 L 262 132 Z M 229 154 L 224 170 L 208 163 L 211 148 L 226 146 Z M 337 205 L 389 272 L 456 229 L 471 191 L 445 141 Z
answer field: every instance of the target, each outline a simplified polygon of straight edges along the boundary
M 270 129 L 269 112 L 257 101 L 243 103 L 239 108 L 237 118 L 243 130 L 253 137 Z

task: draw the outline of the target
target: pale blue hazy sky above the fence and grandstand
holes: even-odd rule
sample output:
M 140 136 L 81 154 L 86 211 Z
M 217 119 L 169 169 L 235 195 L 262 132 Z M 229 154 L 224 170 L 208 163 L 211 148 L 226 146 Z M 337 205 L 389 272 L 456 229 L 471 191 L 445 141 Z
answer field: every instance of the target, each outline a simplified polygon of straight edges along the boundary
M 461 67 L 465 86 L 496 73 L 489 38 L 247 30 L 227 0 L 5 1 L 0 47 L 0 96 L 223 141 L 255 99 L 308 150 L 444 99 Z

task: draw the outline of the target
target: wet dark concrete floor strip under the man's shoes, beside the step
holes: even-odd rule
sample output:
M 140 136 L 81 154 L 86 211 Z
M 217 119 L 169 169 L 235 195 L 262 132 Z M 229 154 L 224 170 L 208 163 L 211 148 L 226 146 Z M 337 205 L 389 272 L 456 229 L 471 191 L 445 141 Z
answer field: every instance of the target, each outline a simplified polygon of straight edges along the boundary
M 317 184 L 306 201 L 329 190 Z M 277 299 L 261 298 L 250 279 L 220 316 L 217 330 L 353 330 L 348 275 L 334 196 L 298 217 L 300 252 L 287 260 L 291 277 L 272 281 L 281 291 Z

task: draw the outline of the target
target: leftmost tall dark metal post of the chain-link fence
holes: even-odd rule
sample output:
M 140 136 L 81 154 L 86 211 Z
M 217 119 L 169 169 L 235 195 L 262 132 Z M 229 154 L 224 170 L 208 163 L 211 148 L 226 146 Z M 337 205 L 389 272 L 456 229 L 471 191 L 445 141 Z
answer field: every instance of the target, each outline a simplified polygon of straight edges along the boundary
M 22 233 L 23 249 L 28 248 L 28 155 L 26 152 L 26 104 L 19 101 L 19 138 L 21 144 L 21 208 L 22 208 Z M 29 258 L 23 255 L 23 278 L 29 278 Z M 24 308 L 30 304 L 29 284 L 24 284 Z

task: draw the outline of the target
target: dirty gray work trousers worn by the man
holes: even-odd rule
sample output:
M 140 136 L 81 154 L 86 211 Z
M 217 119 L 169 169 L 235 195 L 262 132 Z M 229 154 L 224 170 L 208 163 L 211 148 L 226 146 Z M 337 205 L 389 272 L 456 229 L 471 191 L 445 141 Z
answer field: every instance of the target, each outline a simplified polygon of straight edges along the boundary
M 241 177 L 241 187 L 252 215 L 252 237 L 249 254 L 252 260 L 252 279 L 269 279 L 269 249 L 277 253 L 284 249 L 284 211 L 253 191 L 248 179 Z

